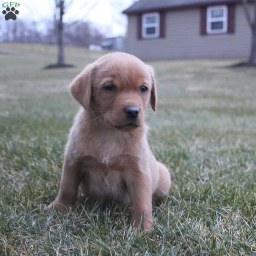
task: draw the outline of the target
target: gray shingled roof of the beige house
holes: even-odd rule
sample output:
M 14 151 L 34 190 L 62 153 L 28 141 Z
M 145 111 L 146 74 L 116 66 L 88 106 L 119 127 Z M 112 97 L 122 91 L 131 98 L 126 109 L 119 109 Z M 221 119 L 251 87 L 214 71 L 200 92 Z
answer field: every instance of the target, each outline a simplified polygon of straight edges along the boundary
M 161 9 L 182 9 L 224 3 L 238 3 L 239 0 L 139 0 L 125 9 L 123 13 L 132 14 Z

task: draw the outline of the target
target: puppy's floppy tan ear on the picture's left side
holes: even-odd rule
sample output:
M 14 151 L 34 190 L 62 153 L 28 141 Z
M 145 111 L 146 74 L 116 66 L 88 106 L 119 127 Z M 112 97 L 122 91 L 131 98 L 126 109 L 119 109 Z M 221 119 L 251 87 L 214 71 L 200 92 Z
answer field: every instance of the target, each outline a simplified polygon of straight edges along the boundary
M 87 65 L 70 84 L 72 96 L 85 110 L 88 110 L 90 106 L 93 66 L 93 64 Z

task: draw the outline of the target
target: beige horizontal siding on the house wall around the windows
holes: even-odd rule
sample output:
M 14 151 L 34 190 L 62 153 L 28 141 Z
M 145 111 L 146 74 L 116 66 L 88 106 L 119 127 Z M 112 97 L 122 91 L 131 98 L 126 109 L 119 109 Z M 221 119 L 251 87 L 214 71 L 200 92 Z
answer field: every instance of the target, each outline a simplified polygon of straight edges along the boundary
M 253 9 L 253 8 L 251 8 Z M 137 16 L 128 18 L 127 52 L 145 60 L 178 58 L 245 58 L 251 33 L 242 6 L 236 6 L 235 33 L 200 34 L 200 9 L 166 13 L 165 38 L 137 38 Z

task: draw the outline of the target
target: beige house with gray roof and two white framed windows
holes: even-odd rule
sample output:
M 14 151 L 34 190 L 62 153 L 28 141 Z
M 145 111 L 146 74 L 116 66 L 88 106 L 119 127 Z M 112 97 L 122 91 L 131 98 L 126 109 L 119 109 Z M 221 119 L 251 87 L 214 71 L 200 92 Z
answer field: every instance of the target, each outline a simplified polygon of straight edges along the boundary
M 144 60 L 246 58 L 250 52 L 241 0 L 139 0 L 123 13 L 126 51 Z

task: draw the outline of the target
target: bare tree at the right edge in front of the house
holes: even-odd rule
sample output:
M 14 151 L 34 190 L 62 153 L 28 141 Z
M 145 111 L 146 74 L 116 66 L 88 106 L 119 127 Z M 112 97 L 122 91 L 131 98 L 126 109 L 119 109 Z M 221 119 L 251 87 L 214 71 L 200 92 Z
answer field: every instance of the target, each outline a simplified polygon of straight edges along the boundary
M 251 15 L 250 7 L 248 5 L 248 0 L 243 0 L 245 16 L 252 32 L 252 44 L 251 44 L 249 64 L 256 65 L 256 0 L 253 0 L 253 3 L 254 3 L 254 14 Z

